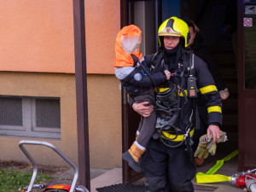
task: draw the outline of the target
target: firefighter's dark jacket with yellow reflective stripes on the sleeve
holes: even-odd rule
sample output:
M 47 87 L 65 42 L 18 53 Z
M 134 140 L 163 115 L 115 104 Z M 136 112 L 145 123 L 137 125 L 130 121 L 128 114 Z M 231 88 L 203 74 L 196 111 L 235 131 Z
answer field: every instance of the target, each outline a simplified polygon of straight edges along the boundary
M 179 80 L 177 78 L 176 72 L 177 69 L 174 69 L 176 71 L 172 71 L 171 73 L 173 76 L 171 77 L 171 82 L 174 84 L 180 84 L 183 87 L 183 90 L 185 90 L 187 94 L 187 81 L 189 78 L 190 70 L 188 70 L 189 67 L 189 58 L 193 58 L 191 60 L 191 73 L 195 75 L 196 78 L 196 84 L 197 84 L 197 90 L 198 94 L 201 94 L 204 96 L 206 101 L 206 107 L 208 112 L 208 125 L 222 125 L 222 103 L 221 103 L 221 97 L 218 94 L 218 90 L 214 84 L 214 80 L 212 79 L 212 75 L 209 72 L 207 68 L 207 64 L 202 61 L 198 56 L 194 55 L 193 57 L 190 57 L 191 52 L 188 50 L 183 49 L 183 54 L 181 55 L 181 58 L 179 60 L 179 66 L 183 67 L 183 79 Z M 153 73 L 160 73 L 163 71 L 163 51 L 160 51 L 157 56 L 154 55 L 148 55 L 145 56 L 145 61 L 148 63 L 150 68 L 152 69 Z M 180 82 L 178 82 L 180 81 Z M 163 84 L 159 84 L 160 87 L 168 87 L 168 81 L 166 81 Z M 195 99 L 189 99 L 187 103 L 184 102 L 183 94 L 179 94 L 181 96 L 181 109 L 179 113 L 179 128 L 181 130 L 184 130 L 185 126 L 189 123 L 189 116 L 191 114 L 191 111 L 195 110 Z M 194 126 L 195 126 L 195 116 L 194 116 Z

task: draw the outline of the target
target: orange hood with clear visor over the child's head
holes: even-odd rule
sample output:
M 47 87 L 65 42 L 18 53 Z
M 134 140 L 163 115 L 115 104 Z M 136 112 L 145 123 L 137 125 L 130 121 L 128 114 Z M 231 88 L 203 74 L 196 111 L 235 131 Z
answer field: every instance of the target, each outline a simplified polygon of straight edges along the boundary
M 113 67 L 132 67 L 131 54 L 136 55 L 139 60 L 143 58 L 140 53 L 142 31 L 135 25 L 123 27 L 115 40 L 115 61 Z

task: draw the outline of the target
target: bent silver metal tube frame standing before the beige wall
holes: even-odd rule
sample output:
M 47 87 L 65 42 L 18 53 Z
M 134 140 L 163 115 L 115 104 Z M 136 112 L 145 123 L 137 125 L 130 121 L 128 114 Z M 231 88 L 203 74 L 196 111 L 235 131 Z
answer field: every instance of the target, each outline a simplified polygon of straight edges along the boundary
M 67 158 L 67 156 L 65 154 L 63 154 L 59 148 L 56 148 L 53 144 L 47 143 L 47 142 L 20 141 L 19 147 L 20 147 L 21 151 L 26 155 L 27 159 L 32 163 L 32 166 L 33 166 L 32 179 L 31 179 L 30 184 L 29 184 L 28 189 L 27 189 L 28 192 L 32 191 L 33 183 L 35 182 L 37 174 L 38 174 L 38 165 L 37 165 L 37 162 L 32 158 L 32 155 L 29 154 L 28 151 L 26 150 L 26 148 L 24 147 L 25 144 L 28 144 L 28 145 L 43 145 L 45 147 L 49 147 L 49 148 L 53 149 L 57 154 L 59 154 L 61 156 L 61 158 L 63 160 L 65 160 L 70 166 L 72 166 L 73 171 L 74 171 L 74 177 L 73 177 L 73 182 L 72 182 L 70 191 L 74 191 L 75 184 L 77 183 L 77 180 L 78 180 L 78 177 L 79 177 L 79 170 L 78 170 L 77 166 L 73 163 L 73 161 L 69 160 Z

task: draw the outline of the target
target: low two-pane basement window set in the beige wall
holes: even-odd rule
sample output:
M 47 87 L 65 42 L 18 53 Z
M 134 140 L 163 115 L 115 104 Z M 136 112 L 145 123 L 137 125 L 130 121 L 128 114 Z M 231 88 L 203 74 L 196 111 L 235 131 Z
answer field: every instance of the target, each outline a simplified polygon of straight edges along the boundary
M 61 138 L 60 98 L 0 96 L 0 135 Z

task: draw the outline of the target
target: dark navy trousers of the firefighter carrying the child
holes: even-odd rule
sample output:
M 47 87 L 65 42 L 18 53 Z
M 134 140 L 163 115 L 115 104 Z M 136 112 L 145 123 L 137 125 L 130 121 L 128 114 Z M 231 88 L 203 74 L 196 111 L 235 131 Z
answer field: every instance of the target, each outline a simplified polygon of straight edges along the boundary
M 185 146 L 168 148 L 151 139 L 143 155 L 142 171 L 150 192 L 194 191 L 191 180 L 196 168 L 189 160 Z

